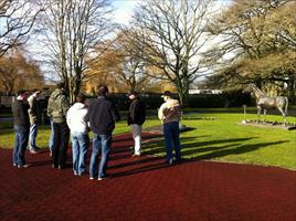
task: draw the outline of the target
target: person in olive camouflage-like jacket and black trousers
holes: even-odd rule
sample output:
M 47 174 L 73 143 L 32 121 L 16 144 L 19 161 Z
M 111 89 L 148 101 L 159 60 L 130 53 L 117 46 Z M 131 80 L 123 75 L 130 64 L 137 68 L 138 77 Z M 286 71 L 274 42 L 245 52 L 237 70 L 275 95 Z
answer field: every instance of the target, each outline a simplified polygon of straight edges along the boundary
M 53 120 L 53 168 L 63 169 L 66 164 L 70 129 L 66 124 L 66 113 L 70 102 L 64 91 L 64 83 L 59 83 L 57 88 L 51 94 L 47 106 L 47 116 Z

